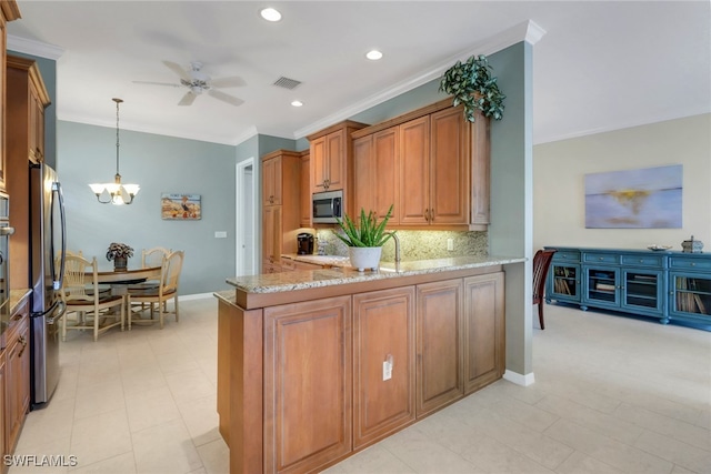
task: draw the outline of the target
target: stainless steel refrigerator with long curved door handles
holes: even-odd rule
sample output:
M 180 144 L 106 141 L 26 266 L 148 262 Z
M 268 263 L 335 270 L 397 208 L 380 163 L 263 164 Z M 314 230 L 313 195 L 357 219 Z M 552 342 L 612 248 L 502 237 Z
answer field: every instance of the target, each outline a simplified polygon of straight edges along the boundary
M 57 172 L 46 164 L 30 165 L 30 389 L 31 406 L 43 406 L 59 382 L 60 323 L 64 304 L 59 297 L 66 219 Z M 61 262 L 54 264 L 54 258 Z

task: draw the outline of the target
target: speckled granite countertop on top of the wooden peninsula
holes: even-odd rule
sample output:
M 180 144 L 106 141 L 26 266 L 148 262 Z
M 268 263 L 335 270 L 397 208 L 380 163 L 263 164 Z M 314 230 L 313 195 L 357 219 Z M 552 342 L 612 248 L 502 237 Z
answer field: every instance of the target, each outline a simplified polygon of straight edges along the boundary
M 298 255 L 313 258 L 324 255 Z M 341 258 L 348 259 L 348 258 Z M 381 262 L 377 271 L 358 272 L 349 264 L 321 270 L 298 270 L 227 279 L 227 283 L 247 293 L 279 293 L 374 280 L 440 273 L 524 262 L 522 256 L 455 256 L 450 259 L 417 260 L 411 262 Z M 316 263 L 316 262 L 314 262 Z M 348 263 L 348 260 L 346 260 Z

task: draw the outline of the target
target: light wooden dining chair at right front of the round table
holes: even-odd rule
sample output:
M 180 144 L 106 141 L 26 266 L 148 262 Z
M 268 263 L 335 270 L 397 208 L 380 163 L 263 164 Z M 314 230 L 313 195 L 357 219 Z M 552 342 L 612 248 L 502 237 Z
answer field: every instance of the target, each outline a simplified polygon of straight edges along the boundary
M 150 310 L 150 319 L 144 320 L 140 317 L 137 322 L 154 322 L 156 306 L 158 306 L 158 315 L 160 322 L 160 329 L 163 329 L 164 316 L 168 314 L 168 301 L 173 300 L 176 322 L 179 321 L 178 310 L 178 286 L 180 285 L 180 272 L 182 271 L 182 262 L 184 259 L 184 252 L 182 250 L 170 252 L 162 258 L 160 280 L 158 288 L 136 289 L 133 285 L 129 286 L 129 330 L 133 323 L 133 316 L 141 316 L 144 311 Z M 144 306 L 144 303 L 149 303 L 149 307 Z M 141 305 L 141 310 L 133 311 L 133 305 Z

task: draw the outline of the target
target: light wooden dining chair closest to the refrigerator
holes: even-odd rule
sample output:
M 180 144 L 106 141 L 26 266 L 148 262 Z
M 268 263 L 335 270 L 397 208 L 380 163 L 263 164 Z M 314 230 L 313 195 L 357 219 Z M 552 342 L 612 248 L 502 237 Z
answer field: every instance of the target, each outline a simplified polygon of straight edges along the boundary
M 87 281 L 88 275 L 91 275 L 90 282 Z M 62 317 L 62 341 L 67 341 L 67 330 L 92 330 L 94 341 L 111 327 L 120 325 L 123 331 L 124 299 L 101 291 L 96 256 L 91 262 L 79 255 L 66 256 L 60 296 L 67 305 L 67 313 Z M 70 313 L 76 314 L 72 325 L 68 324 Z

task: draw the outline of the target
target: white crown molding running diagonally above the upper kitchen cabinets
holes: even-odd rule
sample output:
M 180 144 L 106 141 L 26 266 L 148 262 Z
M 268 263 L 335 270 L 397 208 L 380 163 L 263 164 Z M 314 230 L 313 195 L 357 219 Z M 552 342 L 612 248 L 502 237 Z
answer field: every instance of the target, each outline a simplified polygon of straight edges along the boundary
M 395 83 L 378 94 L 365 98 L 364 100 L 357 102 L 351 107 L 342 109 L 336 113 L 332 113 L 331 115 L 324 117 L 323 119 L 311 123 L 310 125 L 297 130 L 293 134 L 293 138 L 299 139 L 301 137 L 307 137 L 311 133 L 318 132 L 319 130 L 323 130 L 324 128 L 330 127 L 333 123 L 347 120 L 364 110 L 368 110 L 387 100 L 393 99 L 404 92 L 408 92 L 437 78 L 440 78 L 442 73 L 444 73 L 444 71 L 447 71 L 447 69 L 449 69 L 454 62 L 465 60 L 472 54 L 489 56 L 509 48 L 510 46 L 517 44 L 521 41 L 535 44 L 544 34 L 545 30 L 543 30 L 532 20 L 519 23 L 514 27 L 509 28 L 508 30 L 495 34 L 494 37 L 475 43 L 473 47 L 468 48 L 465 51 L 460 51 L 457 54 L 453 54 L 438 62 L 432 68 L 422 71 L 419 75 L 414 75 L 405 81 Z

